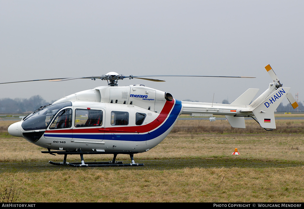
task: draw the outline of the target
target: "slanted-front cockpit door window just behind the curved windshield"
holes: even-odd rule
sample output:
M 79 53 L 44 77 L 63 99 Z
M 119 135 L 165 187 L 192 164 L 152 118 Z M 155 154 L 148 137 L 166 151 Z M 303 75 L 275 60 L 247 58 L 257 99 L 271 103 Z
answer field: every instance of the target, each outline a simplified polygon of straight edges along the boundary
M 56 116 L 50 129 L 71 128 L 72 127 L 72 109 L 61 110 Z

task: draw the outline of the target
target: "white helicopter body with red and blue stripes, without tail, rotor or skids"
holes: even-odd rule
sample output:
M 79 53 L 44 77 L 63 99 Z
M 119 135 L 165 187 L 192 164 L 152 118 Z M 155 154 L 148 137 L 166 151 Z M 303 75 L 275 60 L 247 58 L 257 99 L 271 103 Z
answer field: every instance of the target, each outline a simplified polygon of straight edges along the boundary
M 148 87 L 97 87 L 34 112 L 9 133 L 54 150 L 145 152 L 169 134 L 181 109 L 181 101 Z

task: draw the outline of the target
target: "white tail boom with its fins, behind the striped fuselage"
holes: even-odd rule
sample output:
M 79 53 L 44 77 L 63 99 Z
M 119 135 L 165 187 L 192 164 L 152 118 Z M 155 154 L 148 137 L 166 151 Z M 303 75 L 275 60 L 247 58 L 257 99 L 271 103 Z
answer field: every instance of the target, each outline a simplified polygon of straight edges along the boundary
M 235 102 L 231 104 L 212 104 L 202 102 L 182 101 L 181 114 L 190 114 L 192 116 L 225 115 L 230 125 L 234 128 L 245 128 L 246 116 L 255 116 L 257 122 L 262 128 L 276 128 L 275 110 L 282 102 L 283 98 L 288 94 L 289 87 L 271 88 L 263 93 L 258 99 L 247 105 L 248 94 L 257 92 L 257 89 L 247 90 Z M 246 96 L 247 95 L 247 96 Z M 244 97 L 244 98 L 242 98 Z M 258 101 L 257 101 L 258 100 Z M 246 105 L 239 104 L 238 101 L 246 101 Z M 257 103 L 258 102 L 258 103 Z M 244 116 L 244 117 L 236 117 Z

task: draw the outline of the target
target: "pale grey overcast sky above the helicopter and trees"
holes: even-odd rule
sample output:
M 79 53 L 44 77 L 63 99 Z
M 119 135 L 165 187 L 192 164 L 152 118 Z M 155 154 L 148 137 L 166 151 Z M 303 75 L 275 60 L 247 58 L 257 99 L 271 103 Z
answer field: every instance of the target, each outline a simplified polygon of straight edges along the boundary
M 272 82 L 264 68 L 270 64 L 303 102 L 303 10 L 300 0 L 0 0 L 0 83 L 111 71 L 256 77 L 118 83 L 143 84 L 178 100 L 231 103 L 248 88 L 262 94 Z M 90 79 L 0 84 L 0 98 L 40 95 L 51 102 L 106 85 Z

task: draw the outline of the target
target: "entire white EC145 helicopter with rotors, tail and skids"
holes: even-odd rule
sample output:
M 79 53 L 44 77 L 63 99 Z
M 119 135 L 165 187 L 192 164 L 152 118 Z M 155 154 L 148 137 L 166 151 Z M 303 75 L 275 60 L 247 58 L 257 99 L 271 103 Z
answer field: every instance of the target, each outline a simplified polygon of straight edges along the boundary
M 170 75 L 124 76 L 109 72 L 97 77 L 45 79 L 101 79 L 108 81 L 108 86 L 80 91 L 40 107 L 10 125 L 8 132 L 46 148 L 47 151 L 42 153 L 64 156 L 63 162 L 49 161 L 53 165 L 144 166 L 143 163 L 135 163 L 134 154 L 157 146 L 182 114 L 193 117 L 225 115 L 234 128 L 246 128 L 245 117 L 250 117 L 267 131 L 276 128 L 274 112 L 283 98 L 287 97 L 293 108 L 297 108 L 298 104 L 289 93 L 290 87 L 283 87 L 271 66 L 267 65 L 265 69 L 272 79 L 266 91 L 252 101 L 259 89 L 249 88 L 231 104 L 180 101 L 168 92 L 143 85 L 118 86 L 118 81 L 124 78 L 164 82 L 148 77 Z M 111 154 L 113 159 L 108 162 L 85 162 L 85 154 Z M 116 161 L 118 154 L 129 155 L 131 163 Z M 81 161 L 69 163 L 67 155 L 79 155 Z

